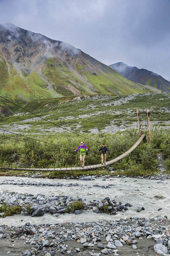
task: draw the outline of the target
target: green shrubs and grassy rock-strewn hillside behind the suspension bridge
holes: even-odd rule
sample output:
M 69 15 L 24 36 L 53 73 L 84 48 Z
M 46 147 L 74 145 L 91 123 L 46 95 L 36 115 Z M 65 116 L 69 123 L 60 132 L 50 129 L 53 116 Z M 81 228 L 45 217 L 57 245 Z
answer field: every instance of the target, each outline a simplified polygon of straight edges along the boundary
M 34 100 L 22 105 L 41 117 L 71 131 L 77 132 L 95 143 L 85 139 L 89 148 L 89 155 L 85 158 L 85 164 L 97 164 L 101 161 L 97 150 L 103 142 L 109 148 L 107 160 L 111 160 L 128 150 L 137 140 L 137 117 L 136 108 L 144 111 L 149 108 L 152 143 L 142 143 L 130 155 L 113 164 L 114 173 L 126 175 L 151 175 L 157 172 L 156 154 L 161 152 L 165 158 L 167 172 L 170 169 L 170 111 L 168 110 L 170 97 L 167 94 L 147 93 L 128 96 L 68 96 L 55 99 Z M 63 132 L 61 128 L 41 118 L 23 112 L 21 108 L 15 109 L 15 115 L 0 116 L 1 128 L 31 137 L 15 144 L 16 135 L 5 133 L 7 137 L 0 148 L 1 166 L 23 168 L 54 168 L 79 166 L 79 154 L 74 151 L 80 144 L 81 137 L 70 132 Z M 146 132 L 147 126 L 145 115 L 140 116 L 142 133 Z M 123 125 L 125 131 L 120 129 Z M 146 131 L 145 131 L 146 130 Z M 2 131 L 1 131 L 2 132 Z M 2 133 L 3 134 L 3 133 Z M 1 135 L 2 135 L 1 134 Z M 1 137 L 2 138 L 2 137 Z M 59 146 L 48 147 L 48 144 L 35 140 L 38 139 Z M 147 136 L 148 140 L 148 136 Z M 65 147 L 65 148 L 63 148 Z M 16 174 L 15 171 L 2 171 L 4 174 Z M 22 173 L 22 172 L 21 172 Z M 50 172 L 51 177 L 64 177 L 82 175 L 83 171 Z M 89 170 L 88 174 L 106 174 L 107 167 L 97 170 Z M 42 176 L 46 176 L 43 173 Z

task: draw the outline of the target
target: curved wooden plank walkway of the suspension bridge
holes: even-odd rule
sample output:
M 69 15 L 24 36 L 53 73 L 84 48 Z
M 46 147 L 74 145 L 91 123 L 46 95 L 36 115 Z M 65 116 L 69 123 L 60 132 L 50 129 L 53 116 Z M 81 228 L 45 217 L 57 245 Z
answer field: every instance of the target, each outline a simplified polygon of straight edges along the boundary
M 0 169 L 3 169 L 3 170 L 20 170 L 20 171 L 49 171 L 49 172 L 54 172 L 54 171 L 76 171 L 76 170 L 90 170 L 90 169 L 96 169 L 98 167 L 103 167 L 103 166 L 106 166 L 106 165 L 110 165 L 110 164 L 113 164 L 117 161 L 119 161 L 120 159 L 122 159 L 123 157 L 129 155 L 129 153 L 131 153 L 139 144 L 140 142 L 144 139 L 145 137 L 145 134 L 142 134 L 140 136 L 140 138 L 137 140 L 137 142 L 131 147 L 128 149 L 128 151 L 124 152 L 122 155 L 120 156 L 117 156 L 116 158 L 110 160 L 110 161 L 107 161 L 105 165 L 102 165 L 102 164 L 94 164 L 94 165 L 87 165 L 85 166 L 84 168 L 81 168 L 81 167 L 65 167 L 65 168 L 11 168 L 11 167 L 0 167 Z

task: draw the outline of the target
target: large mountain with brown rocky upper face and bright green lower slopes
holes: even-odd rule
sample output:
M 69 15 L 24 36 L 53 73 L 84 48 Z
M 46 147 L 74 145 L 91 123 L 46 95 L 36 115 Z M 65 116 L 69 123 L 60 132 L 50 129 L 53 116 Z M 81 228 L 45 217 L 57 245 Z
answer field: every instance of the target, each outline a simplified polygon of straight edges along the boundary
M 14 101 L 148 90 L 70 44 L 0 25 L 0 94 Z

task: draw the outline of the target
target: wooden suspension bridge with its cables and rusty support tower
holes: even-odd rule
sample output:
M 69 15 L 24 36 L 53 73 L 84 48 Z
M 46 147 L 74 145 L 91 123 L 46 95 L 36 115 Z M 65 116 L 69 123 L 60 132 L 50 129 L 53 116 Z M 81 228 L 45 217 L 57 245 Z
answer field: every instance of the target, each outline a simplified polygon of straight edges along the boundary
M 0 97 L 3 98 L 2 96 L 0 96 Z M 3 98 L 3 99 L 5 99 L 5 98 Z M 7 99 L 5 99 L 5 100 L 7 100 Z M 9 100 L 7 100 L 7 101 L 9 101 Z M 9 101 L 9 102 L 11 102 L 11 101 Z M 11 103 L 14 104 L 14 105 L 16 105 L 16 106 L 18 106 L 17 104 L 15 104 L 15 103 L 13 103 L 13 102 L 11 102 Z M 19 107 L 19 108 L 22 108 L 22 107 L 20 107 L 20 106 L 18 106 L 18 107 Z M 30 112 L 30 111 L 28 111 L 28 110 L 25 109 L 25 108 L 22 108 L 22 109 L 24 109 L 24 110 L 27 111 L 27 112 Z M 72 133 L 78 135 L 79 137 L 83 137 L 83 138 L 85 138 L 86 140 L 91 140 L 91 141 L 96 142 L 96 143 L 98 143 L 98 144 L 100 144 L 100 145 L 102 144 L 100 141 L 96 141 L 96 140 L 93 140 L 93 139 L 91 139 L 91 138 L 87 138 L 87 137 L 83 136 L 82 134 L 78 134 L 78 133 L 76 133 L 76 132 L 70 131 L 70 130 L 68 130 L 68 129 L 62 127 L 62 126 L 59 126 L 59 125 L 55 124 L 54 122 L 51 122 L 51 121 L 49 121 L 49 120 L 47 120 L 47 119 L 45 119 L 45 118 L 43 118 L 43 117 L 41 117 L 41 116 L 38 116 L 38 115 L 34 114 L 33 112 L 30 112 L 30 113 L 33 114 L 33 115 L 35 115 L 35 116 L 37 116 L 37 117 L 39 117 L 39 118 L 41 118 L 41 119 L 43 119 L 43 120 L 45 120 L 45 121 L 47 121 L 47 122 L 49 122 L 49 123 L 52 123 L 52 124 L 54 124 L 54 125 L 56 125 L 56 126 L 58 126 L 58 127 L 60 127 L 60 128 L 63 128 L 64 130 L 66 130 L 66 131 L 68 131 L 68 132 L 72 132 Z M 64 147 L 64 146 L 61 146 L 61 145 L 57 145 L 57 144 L 45 142 L 45 141 L 38 140 L 38 139 L 33 139 L 33 138 L 27 137 L 27 136 L 25 136 L 25 135 L 17 134 L 17 133 L 11 132 L 11 131 L 6 131 L 6 130 L 3 130 L 3 129 L 0 128 L 0 130 L 2 131 L 2 132 L 0 132 L 0 133 L 2 134 L 2 135 L 0 135 L 0 138 L 1 138 L 1 140 L 0 140 L 0 160 L 2 160 L 2 158 L 3 158 L 3 153 L 4 153 L 4 166 L 3 166 L 3 161 L 0 161 L 0 163 L 1 163 L 0 169 L 1 169 L 1 170 L 15 170 L 15 171 L 19 171 L 19 170 L 20 170 L 20 171 L 49 171 L 49 172 L 54 172 L 54 171 L 72 171 L 72 170 L 73 170 L 73 171 L 76 171 L 76 170 L 78 171 L 78 170 L 96 169 L 96 168 L 99 168 L 99 167 L 103 167 L 103 166 L 107 166 L 107 165 L 113 164 L 113 163 L 115 163 L 115 162 L 121 160 L 122 158 L 128 156 L 135 148 L 137 148 L 137 146 L 138 146 L 139 144 L 141 144 L 142 140 L 143 140 L 144 142 L 146 142 L 146 129 L 145 129 L 145 134 L 141 134 L 141 131 L 140 131 L 139 115 L 142 114 L 142 113 L 143 113 L 143 114 L 146 114 L 146 116 L 147 116 L 147 121 L 148 121 L 148 133 L 149 133 L 149 142 L 151 142 L 151 138 L 150 138 L 150 123 L 149 123 L 149 114 L 150 114 L 150 113 L 149 113 L 149 109 L 146 109 L 146 112 L 139 112 L 138 109 L 137 109 L 137 113 L 136 113 L 136 114 L 137 114 L 137 119 L 138 119 L 139 139 L 138 139 L 126 152 L 122 153 L 122 154 L 119 155 L 119 156 L 116 156 L 114 159 L 110 159 L 109 161 L 105 162 L 104 165 L 102 165 L 102 164 L 90 164 L 90 165 L 84 166 L 83 169 L 82 169 L 81 167 L 77 167 L 77 166 L 69 167 L 69 166 L 68 166 L 68 163 L 66 164 L 67 167 L 56 167 L 56 164 L 54 164 L 54 168 L 51 168 L 51 166 L 48 166 L 48 167 L 46 167 L 46 168 L 41 168 L 41 167 L 39 167 L 39 168 L 34 168 L 34 167 L 32 167 L 33 164 L 31 164 L 31 162 L 26 164 L 24 158 L 23 158 L 23 162 L 24 162 L 23 164 L 28 165 L 29 168 L 23 168 L 23 167 L 21 167 L 20 165 L 17 166 L 16 163 L 15 163 L 16 166 L 13 166 L 11 160 L 9 160 L 9 163 L 7 164 L 7 163 L 5 162 L 5 146 L 6 146 L 6 142 L 9 141 L 9 140 L 13 140 L 13 141 L 14 141 L 13 152 L 14 152 L 14 149 L 16 149 L 16 151 L 15 151 L 16 153 L 17 153 L 17 145 L 18 145 L 21 141 L 25 143 L 25 150 L 26 150 L 26 147 L 27 147 L 28 144 L 32 145 L 33 153 L 34 153 L 34 149 L 35 149 L 37 146 L 38 146 L 38 147 L 41 147 L 41 149 L 42 149 L 42 147 L 45 147 L 45 148 L 44 148 L 44 152 L 45 152 L 45 153 L 46 153 L 46 149 L 47 149 L 47 148 L 48 148 L 48 150 L 49 150 L 49 148 L 50 148 L 50 150 L 54 150 L 54 155 L 55 155 L 55 150 L 58 149 L 58 148 L 59 148 L 60 150 L 61 150 L 61 149 L 64 149 L 64 150 L 74 150 L 74 149 L 70 149 L 70 147 Z M 146 121 L 145 121 L 145 126 L 146 126 Z M 12 135 L 15 134 L 16 137 L 13 138 L 13 137 L 7 136 L 7 134 L 9 134 L 9 133 L 11 133 Z M 20 137 L 21 137 L 21 138 L 20 138 Z M 107 145 L 109 145 L 109 144 L 107 144 Z M 110 146 L 113 146 L 113 145 L 110 145 Z M 127 146 L 128 146 L 128 145 L 127 145 Z M 90 153 L 91 153 L 91 154 L 92 154 L 92 153 L 96 154 L 96 151 L 91 151 Z M 33 155 L 34 155 L 34 154 L 33 154 Z M 61 151 L 60 151 L 60 156 L 62 156 Z M 43 156 L 41 156 L 41 157 L 43 157 Z M 51 156 L 48 156 L 48 158 L 50 158 L 50 157 L 51 157 Z M 49 159 L 48 159 L 48 160 L 49 160 Z

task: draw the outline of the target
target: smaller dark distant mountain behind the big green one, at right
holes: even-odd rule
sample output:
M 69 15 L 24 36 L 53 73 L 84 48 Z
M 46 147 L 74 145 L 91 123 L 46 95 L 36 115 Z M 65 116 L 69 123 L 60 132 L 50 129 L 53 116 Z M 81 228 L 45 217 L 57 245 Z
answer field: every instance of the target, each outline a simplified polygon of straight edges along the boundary
M 131 67 L 123 62 L 114 63 L 109 65 L 109 67 L 135 83 L 149 85 L 163 92 L 170 93 L 170 82 L 152 71 Z

